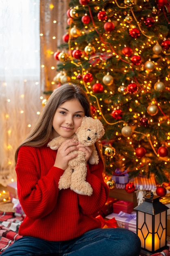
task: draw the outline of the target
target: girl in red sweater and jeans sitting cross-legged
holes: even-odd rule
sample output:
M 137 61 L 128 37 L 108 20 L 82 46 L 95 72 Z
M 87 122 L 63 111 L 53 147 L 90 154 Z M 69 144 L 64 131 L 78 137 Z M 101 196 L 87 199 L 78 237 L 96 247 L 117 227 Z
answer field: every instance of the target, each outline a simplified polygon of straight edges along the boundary
M 5 250 L 3 256 L 138 256 L 140 240 L 133 232 L 101 229 L 92 215 L 106 203 L 109 189 L 102 178 L 103 162 L 90 165 L 91 147 L 65 141 L 58 150 L 48 142 L 57 136 L 70 137 L 84 116 L 92 116 L 86 93 L 71 83 L 61 85 L 48 99 L 39 121 L 17 148 L 17 191 L 26 217 L 20 225 L 22 238 Z M 96 144 L 96 148 L 98 145 Z M 60 176 L 73 150 L 85 153 L 91 196 L 70 189 L 59 190 Z

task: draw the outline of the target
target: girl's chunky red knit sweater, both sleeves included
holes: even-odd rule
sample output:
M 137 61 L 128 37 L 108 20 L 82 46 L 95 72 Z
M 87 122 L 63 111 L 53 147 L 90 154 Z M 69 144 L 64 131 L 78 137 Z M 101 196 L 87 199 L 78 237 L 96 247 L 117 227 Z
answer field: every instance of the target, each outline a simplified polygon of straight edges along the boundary
M 21 236 L 33 236 L 49 241 L 70 240 L 101 226 L 92 217 L 108 197 L 108 187 L 102 177 L 102 161 L 87 166 L 87 182 L 93 188 L 91 196 L 78 195 L 70 189 L 59 191 L 63 170 L 54 167 L 57 150 L 22 146 L 18 153 L 17 191 L 26 218 L 20 225 Z

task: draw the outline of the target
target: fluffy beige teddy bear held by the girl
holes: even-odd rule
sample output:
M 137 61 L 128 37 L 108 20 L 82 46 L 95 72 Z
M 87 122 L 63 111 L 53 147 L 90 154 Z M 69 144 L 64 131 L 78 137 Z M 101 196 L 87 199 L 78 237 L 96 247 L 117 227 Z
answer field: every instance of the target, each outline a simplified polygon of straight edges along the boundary
M 92 155 L 89 158 L 90 164 L 98 164 L 99 157 L 95 147 L 95 142 L 98 141 L 105 133 L 102 122 L 99 119 L 93 119 L 92 117 L 83 117 L 81 126 L 78 127 L 76 132 L 72 135 L 74 141 L 79 141 L 85 146 L 92 146 Z M 61 146 L 65 137 L 56 137 L 52 139 L 47 146 L 52 150 L 56 150 Z M 80 150 L 74 150 L 70 154 L 77 153 L 78 156 L 71 159 L 68 163 L 68 167 L 65 169 L 63 175 L 59 180 L 59 189 L 70 188 L 74 192 L 81 195 L 92 195 L 92 186 L 87 182 L 87 163 L 85 160 L 85 153 Z

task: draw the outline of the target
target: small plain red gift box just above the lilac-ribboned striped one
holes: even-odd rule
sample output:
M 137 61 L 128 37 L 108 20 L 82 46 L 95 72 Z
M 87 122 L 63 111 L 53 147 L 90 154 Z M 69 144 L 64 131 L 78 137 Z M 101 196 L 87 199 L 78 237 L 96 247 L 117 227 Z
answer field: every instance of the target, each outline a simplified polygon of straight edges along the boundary
M 113 213 L 120 213 L 120 211 L 123 211 L 125 213 L 131 213 L 133 209 L 133 202 L 118 200 L 117 202 L 113 203 Z

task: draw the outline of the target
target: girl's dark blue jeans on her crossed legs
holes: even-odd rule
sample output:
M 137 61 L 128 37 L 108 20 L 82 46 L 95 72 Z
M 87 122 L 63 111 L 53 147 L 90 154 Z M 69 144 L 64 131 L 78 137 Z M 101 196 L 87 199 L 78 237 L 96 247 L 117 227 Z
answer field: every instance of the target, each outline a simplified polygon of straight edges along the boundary
M 139 256 L 140 240 L 127 229 L 94 229 L 69 241 L 49 242 L 24 236 L 2 256 Z

